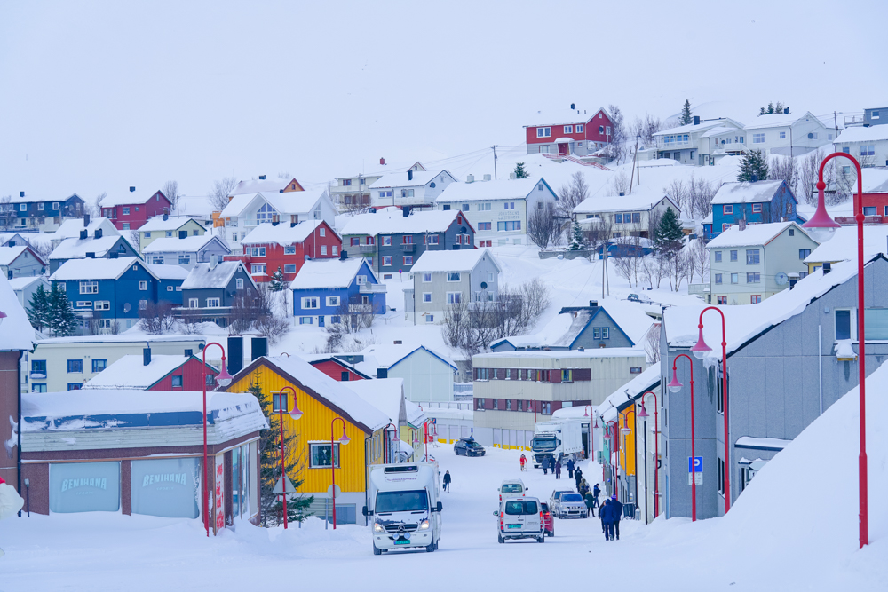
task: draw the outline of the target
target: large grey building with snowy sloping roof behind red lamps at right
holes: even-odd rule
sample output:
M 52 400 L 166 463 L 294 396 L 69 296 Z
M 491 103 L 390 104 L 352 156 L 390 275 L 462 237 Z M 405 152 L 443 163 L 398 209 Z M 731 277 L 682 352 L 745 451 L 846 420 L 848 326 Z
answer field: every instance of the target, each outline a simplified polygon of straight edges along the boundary
M 864 275 L 871 374 L 888 356 L 888 259 L 881 254 L 870 259 Z M 720 309 L 725 312 L 728 352 L 726 462 L 718 363 L 721 323 L 716 313 L 704 317 L 704 338 L 713 351 L 702 361 L 694 359 L 695 454 L 702 457 L 703 471 L 697 517 L 724 513 L 725 470 L 733 502 L 765 462 L 857 386 L 856 278 L 856 262 L 843 262 L 792 282 L 790 289 L 761 304 Z M 701 311 L 675 306 L 664 312 L 663 384 L 670 383 L 676 356 L 691 353 Z M 676 393 L 662 390 L 661 490 L 667 517 L 689 517 L 690 373 L 686 359 L 679 359 L 677 367 L 678 381 L 685 386 Z

